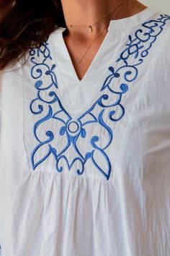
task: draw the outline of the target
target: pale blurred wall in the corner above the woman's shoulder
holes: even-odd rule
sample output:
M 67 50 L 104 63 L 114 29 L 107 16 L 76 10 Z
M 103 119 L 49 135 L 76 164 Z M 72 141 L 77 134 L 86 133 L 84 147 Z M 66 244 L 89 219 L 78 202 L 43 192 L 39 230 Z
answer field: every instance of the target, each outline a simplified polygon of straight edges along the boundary
M 170 0 L 139 0 L 140 3 L 145 4 L 146 7 L 156 7 L 156 9 L 170 14 Z

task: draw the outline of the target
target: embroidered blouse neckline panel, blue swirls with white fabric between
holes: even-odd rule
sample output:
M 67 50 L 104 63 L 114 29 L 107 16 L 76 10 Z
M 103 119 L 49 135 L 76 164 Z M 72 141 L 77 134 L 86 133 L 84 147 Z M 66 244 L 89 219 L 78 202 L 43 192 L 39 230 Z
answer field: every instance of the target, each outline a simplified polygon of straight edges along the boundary
M 106 149 L 112 142 L 113 132 L 106 120 L 108 119 L 110 123 L 110 121 L 119 121 L 124 116 L 125 108 L 121 103 L 122 95 L 128 91 L 128 83 L 134 81 L 138 76 L 138 65 L 142 64 L 143 59 L 148 56 L 149 49 L 162 32 L 166 20 L 169 19 L 170 16 L 161 14 L 157 20 L 144 22 L 142 28 L 135 31 L 135 35 L 129 35 L 129 43 L 126 44 L 120 58 L 116 60 L 116 64 L 120 67 L 117 69 L 109 67 L 111 74 L 102 85 L 102 95 L 93 103 L 91 108 L 77 119 L 71 117 L 58 98 L 57 70 L 54 71 L 55 64 L 49 64 L 53 59 L 48 48 L 48 38 L 39 48 L 30 50 L 30 61 L 33 64 L 31 76 L 35 80 L 35 89 L 37 90 L 37 98 L 31 101 L 30 111 L 32 114 L 40 116 L 33 127 L 37 140 L 37 146 L 31 154 L 33 170 L 49 155 L 53 155 L 56 163 L 55 168 L 58 172 L 63 171 L 62 163 L 65 161 L 68 170 L 76 165 L 76 173 L 81 175 L 84 173 L 86 162 L 91 161 L 97 170 L 107 180 L 109 179 L 111 163 Z M 135 63 L 128 64 L 128 60 L 132 59 L 132 56 Z M 38 62 L 39 58 L 40 63 Z M 124 81 L 116 89 L 115 84 L 119 77 Z M 52 124 L 54 121 L 57 124 L 55 131 L 47 130 L 45 132 L 46 139 L 42 138 L 40 127 L 42 131 L 44 129 L 43 124 L 49 122 L 48 127 L 50 127 L 50 122 Z M 99 126 L 97 130 L 102 130 L 104 137 L 91 135 L 93 129 L 89 129 L 90 126 Z M 54 140 L 55 142 L 53 142 Z M 84 140 L 83 144 L 79 143 L 82 140 Z M 79 144 L 86 145 L 85 152 L 82 147 L 79 147 Z M 46 147 L 45 150 L 43 147 Z M 69 150 L 71 153 L 68 152 Z M 45 153 L 42 153 L 44 151 Z M 38 161 L 35 161 L 35 155 L 37 158 L 39 157 Z

